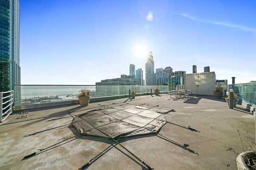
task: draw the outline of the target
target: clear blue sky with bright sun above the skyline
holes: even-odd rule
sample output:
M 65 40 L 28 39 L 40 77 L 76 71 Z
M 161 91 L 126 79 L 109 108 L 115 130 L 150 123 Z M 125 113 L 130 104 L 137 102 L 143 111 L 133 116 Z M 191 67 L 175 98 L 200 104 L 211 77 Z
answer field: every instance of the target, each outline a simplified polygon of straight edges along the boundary
M 21 84 L 94 85 L 130 64 L 145 73 L 150 51 L 155 69 L 256 80 L 255 9 L 255 0 L 20 0 Z

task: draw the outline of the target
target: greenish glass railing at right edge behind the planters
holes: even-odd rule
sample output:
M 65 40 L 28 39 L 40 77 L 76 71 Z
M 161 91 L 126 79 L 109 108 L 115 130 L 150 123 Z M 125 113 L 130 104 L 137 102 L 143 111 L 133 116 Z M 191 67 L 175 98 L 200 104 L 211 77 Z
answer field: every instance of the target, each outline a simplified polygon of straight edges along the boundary
M 244 84 L 229 84 L 228 88 L 232 88 L 240 102 L 256 108 L 256 82 Z M 228 92 L 229 92 L 228 89 Z

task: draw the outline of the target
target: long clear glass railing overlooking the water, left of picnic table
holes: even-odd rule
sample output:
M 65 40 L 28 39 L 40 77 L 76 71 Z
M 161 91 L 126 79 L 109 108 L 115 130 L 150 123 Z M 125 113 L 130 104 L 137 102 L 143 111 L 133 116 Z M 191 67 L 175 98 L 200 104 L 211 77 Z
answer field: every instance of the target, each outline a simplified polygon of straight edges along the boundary
M 129 95 L 134 89 L 136 94 L 152 93 L 156 86 L 95 86 L 95 85 L 15 85 L 14 106 L 78 100 L 81 89 L 87 88 L 91 98 Z M 168 86 L 158 86 L 160 92 L 167 92 Z

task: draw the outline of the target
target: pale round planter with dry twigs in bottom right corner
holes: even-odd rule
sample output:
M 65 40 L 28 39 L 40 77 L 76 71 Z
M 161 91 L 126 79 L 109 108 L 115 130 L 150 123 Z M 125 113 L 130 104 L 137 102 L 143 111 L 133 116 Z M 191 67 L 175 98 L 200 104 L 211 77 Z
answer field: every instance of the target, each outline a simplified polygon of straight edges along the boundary
M 252 168 L 249 168 L 247 165 L 249 165 L 248 159 L 250 160 L 250 157 L 255 158 L 256 154 L 254 151 L 246 151 L 240 153 L 236 157 L 236 166 L 238 170 L 251 170 Z

